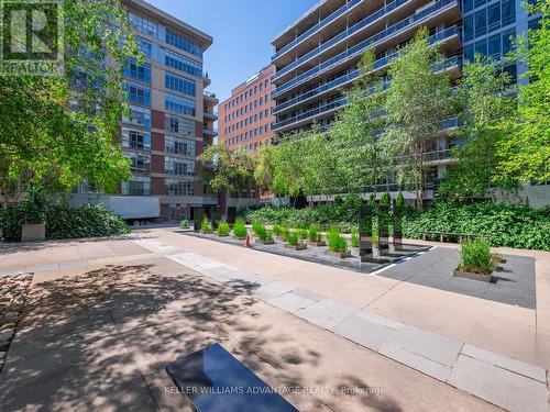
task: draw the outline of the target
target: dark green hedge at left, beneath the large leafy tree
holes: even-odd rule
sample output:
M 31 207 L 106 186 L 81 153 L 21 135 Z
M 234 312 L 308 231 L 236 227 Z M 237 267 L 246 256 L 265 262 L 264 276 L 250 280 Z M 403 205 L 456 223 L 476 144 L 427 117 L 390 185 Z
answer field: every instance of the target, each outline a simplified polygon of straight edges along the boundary
M 0 208 L 0 238 L 21 240 L 21 225 L 33 223 L 36 215 L 46 223 L 46 238 L 80 238 L 123 235 L 130 232 L 122 218 L 103 205 L 69 208 L 66 203 L 42 204 L 38 213 L 30 202 Z

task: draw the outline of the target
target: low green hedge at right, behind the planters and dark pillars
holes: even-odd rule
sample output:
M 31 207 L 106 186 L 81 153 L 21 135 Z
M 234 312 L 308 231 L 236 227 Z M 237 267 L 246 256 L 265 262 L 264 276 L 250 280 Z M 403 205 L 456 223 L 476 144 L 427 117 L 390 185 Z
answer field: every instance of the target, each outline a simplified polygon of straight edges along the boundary
M 323 204 L 306 209 L 264 207 L 245 211 L 248 222 L 307 227 L 317 223 L 352 232 L 358 227 L 358 205 Z M 473 233 L 486 237 L 492 246 L 550 250 L 550 208 L 482 202 L 455 204 L 437 202 L 418 212 L 405 209 L 404 237 L 422 237 L 424 232 Z

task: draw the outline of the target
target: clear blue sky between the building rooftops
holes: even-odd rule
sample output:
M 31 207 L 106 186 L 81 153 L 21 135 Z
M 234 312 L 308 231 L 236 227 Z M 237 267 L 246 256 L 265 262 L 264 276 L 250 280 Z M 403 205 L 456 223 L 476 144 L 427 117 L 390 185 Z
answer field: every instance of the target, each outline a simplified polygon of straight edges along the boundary
M 146 0 L 165 12 L 211 35 L 205 53 L 207 90 L 220 101 L 231 90 L 267 66 L 273 37 L 318 0 Z

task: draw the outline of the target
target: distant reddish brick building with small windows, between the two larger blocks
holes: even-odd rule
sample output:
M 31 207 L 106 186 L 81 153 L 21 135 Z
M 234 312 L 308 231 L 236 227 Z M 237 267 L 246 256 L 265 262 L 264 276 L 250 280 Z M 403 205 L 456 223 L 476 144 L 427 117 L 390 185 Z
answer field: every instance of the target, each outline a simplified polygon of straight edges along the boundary
M 243 147 L 255 155 L 273 137 L 274 67 L 267 66 L 235 87 L 231 97 L 218 105 L 218 144 L 231 151 Z

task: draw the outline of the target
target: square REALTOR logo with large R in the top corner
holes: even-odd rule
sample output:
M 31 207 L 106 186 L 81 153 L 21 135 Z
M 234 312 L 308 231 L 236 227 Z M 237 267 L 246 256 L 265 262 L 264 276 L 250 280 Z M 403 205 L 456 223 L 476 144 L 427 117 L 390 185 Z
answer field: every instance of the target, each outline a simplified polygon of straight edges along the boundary
M 0 0 L 0 74 L 63 73 L 62 1 Z

